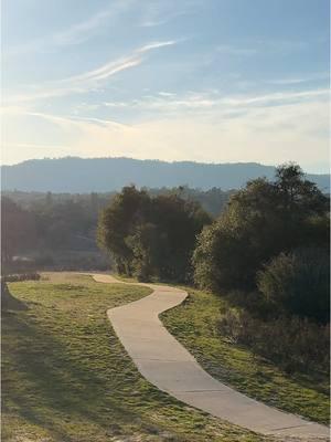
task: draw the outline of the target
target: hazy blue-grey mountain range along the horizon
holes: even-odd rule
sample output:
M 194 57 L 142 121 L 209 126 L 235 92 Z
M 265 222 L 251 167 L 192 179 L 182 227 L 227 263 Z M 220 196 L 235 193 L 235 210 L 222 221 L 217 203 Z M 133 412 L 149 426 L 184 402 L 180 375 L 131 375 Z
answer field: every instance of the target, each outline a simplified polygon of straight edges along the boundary
M 131 158 L 33 159 L 1 167 L 3 190 L 52 191 L 68 193 L 106 192 L 135 183 L 161 188 L 188 185 L 192 188 L 238 189 L 257 177 L 274 178 L 275 167 L 256 162 L 202 164 L 166 162 Z M 307 175 L 325 192 L 329 175 Z

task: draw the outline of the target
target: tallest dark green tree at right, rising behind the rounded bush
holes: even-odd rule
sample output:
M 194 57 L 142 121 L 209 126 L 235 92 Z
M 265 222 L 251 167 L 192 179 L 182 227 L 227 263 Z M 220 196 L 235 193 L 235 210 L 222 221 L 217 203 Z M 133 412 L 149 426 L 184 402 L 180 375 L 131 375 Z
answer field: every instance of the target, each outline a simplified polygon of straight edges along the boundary
M 328 198 L 296 165 L 277 168 L 274 182 L 249 181 L 199 236 L 195 282 L 214 291 L 254 288 L 256 272 L 280 252 L 328 246 L 327 211 Z

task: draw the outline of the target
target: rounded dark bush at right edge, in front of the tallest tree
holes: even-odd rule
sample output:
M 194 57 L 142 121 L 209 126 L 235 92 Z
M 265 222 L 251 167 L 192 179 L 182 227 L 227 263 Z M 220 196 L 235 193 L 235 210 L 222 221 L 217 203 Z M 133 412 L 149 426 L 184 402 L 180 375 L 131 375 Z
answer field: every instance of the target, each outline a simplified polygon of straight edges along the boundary
M 258 272 L 257 286 L 284 312 L 329 320 L 330 262 L 321 249 L 280 253 Z

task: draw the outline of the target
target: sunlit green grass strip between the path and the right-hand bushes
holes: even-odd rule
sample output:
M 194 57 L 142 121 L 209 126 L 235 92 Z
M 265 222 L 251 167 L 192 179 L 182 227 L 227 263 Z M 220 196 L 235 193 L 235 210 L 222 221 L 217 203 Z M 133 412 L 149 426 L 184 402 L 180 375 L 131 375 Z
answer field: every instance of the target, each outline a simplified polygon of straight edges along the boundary
M 249 350 L 222 339 L 216 322 L 220 309 L 228 307 L 226 301 L 210 293 L 188 291 L 189 298 L 166 312 L 162 322 L 207 372 L 252 398 L 328 423 L 328 375 L 290 377 Z

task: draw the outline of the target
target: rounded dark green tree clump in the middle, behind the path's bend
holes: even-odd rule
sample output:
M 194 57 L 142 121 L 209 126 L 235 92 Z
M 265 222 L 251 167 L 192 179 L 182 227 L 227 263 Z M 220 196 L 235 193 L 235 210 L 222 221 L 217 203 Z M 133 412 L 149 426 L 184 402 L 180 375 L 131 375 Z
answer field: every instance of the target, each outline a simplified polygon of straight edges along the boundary
M 210 222 L 199 203 L 178 193 L 151 197 L 130 186 L 104 210 L 98 243 L 111 253 L 119 273 L 188 281 L 195 236 Z

